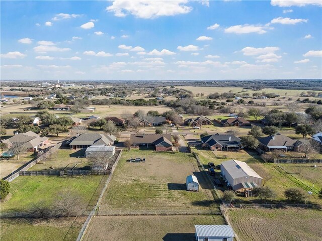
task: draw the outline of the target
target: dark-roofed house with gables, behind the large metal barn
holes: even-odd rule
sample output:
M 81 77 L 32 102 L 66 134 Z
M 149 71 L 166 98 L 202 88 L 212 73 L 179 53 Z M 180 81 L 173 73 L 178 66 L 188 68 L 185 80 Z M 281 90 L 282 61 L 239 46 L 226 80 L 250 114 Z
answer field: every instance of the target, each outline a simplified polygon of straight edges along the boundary
M 201 146 L 208 147 L 211 151 L 239 151 L 240 139 L 234 135 L 215 134 L 201 138 Z

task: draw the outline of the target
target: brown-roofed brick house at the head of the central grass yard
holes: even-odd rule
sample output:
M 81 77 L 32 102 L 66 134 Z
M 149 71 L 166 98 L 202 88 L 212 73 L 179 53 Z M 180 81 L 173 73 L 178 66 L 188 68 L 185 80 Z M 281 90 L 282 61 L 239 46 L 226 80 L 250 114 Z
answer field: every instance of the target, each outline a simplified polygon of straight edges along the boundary
M 131 134 L 133 147 L 154 147 L 155 151 L 172 151 L 171 134 Z

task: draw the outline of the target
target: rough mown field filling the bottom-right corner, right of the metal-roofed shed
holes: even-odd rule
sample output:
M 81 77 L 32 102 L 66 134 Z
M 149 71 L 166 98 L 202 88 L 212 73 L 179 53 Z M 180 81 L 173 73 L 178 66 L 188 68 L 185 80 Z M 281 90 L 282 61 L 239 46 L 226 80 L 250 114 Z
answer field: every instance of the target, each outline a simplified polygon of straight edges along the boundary
M 246 208 L 227 214 L 241 241 L 322 240 L 321 210 Z

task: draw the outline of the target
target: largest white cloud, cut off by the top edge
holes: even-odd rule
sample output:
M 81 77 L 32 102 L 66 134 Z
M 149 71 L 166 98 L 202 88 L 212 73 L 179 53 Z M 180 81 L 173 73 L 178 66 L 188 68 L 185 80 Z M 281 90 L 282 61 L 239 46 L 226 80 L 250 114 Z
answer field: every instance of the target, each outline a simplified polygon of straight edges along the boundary
M 125 17 L 128 14 L 137 18 L 153 19 L 160 16 L 174 16 L 187 14 L 192 10 L 185 4 L 188 0 L 150 1 L 150 0 L 114 0 L 106 11 L 114 13 L 116 17 Z

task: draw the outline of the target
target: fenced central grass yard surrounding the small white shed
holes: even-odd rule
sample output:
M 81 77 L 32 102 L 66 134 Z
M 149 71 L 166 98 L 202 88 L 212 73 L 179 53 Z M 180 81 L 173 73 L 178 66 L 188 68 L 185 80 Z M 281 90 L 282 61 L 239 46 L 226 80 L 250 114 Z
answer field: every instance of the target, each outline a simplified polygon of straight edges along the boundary
M 145 157 L 145 163 L 126 160 Z M 186 177 L 194 174 L 199 192 L 186 191 Z M 211 186 L 199 172 L 191 154 L 131 150 L 123 152 L 101 210 L 207 209 L 214 205 Z

